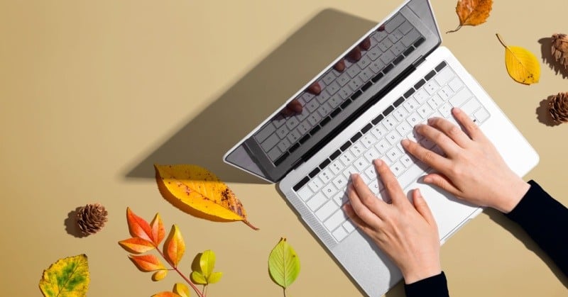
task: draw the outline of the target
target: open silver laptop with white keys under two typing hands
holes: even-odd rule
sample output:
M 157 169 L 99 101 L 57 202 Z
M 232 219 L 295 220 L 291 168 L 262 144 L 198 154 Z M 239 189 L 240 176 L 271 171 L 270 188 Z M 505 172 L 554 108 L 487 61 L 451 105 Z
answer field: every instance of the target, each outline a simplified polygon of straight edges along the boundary
M 443 152 L 417 135 L 414 125 L 434 116 L 457 123 L 451 115 L 457 106 L 516 174 L 527 174 L 539 159 L 440 43 L 430 1 L 405 1 L 224 155 L 224 162 L 278 183 L 307 228 L 368 296 L 386 293 L 402 275 L 342 211 L 351 173 L 361 174 L 377 197 L 386 200 L 372 164 L 383 159 L 405 192 L 422 191 L 443 244 L 482 209 L 419 182 L 432 169 L 408 155 L 400 140 L 409 138 Z M 353 58 L 349 53 L 356 47 L 361 55 Z M 316 83 L 319 88 L 310 91 Z M 289 104 L 301 108 L 284 113 Z

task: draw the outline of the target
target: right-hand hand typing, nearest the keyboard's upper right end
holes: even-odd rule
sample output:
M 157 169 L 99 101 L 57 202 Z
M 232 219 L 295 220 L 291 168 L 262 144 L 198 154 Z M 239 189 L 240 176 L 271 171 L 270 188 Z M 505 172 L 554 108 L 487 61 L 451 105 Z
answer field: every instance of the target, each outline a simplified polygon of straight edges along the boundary
M 478 206 L 509 213 L 530 184 L 507 166 L 491 141 L 466 113 L 459 108 L 453 108 L 452 113 L 467 134 L 443 118 L 430 118 L 428 125 L 416 126 L 417 133 L 435 142 L 446 157 L 410 140 L 403 140 L 401 144 L 410 154 L 439 172 L 427 174 L 425 183 L 439 186 Z

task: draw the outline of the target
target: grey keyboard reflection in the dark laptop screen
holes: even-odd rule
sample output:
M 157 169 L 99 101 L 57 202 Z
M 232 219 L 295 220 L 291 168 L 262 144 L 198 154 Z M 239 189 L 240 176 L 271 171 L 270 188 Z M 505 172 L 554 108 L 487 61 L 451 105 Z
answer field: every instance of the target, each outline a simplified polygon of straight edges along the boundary
M 254 135 L 276 166 L 424 41 L 400 13 L 369 38 L 371 47 L 361 52 L 359 61 L 346 60 L 343 72 L 330 69 L 320 77 L 317 81 L 322 88 L 320 94 L 307 91 L 300 94 L 297 100 L 302 104 L 301 114 L 277 116 Z

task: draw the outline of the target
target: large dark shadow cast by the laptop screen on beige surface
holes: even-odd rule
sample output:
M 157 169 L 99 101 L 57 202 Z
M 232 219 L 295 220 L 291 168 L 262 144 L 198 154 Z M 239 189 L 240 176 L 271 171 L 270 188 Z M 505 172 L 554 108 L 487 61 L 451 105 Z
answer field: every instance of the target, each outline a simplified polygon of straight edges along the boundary
M 197 164 L 227 182 L 266 184 L 225 164 L 225 152 L 375 24 L 334 9 L 317 13 L 124 177 L 154 179 L 155 163 Z

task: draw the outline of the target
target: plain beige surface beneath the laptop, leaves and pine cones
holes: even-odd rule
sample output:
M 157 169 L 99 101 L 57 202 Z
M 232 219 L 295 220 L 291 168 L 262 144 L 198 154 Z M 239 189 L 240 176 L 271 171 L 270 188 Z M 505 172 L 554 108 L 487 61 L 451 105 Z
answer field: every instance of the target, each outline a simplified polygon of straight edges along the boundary
M 289 296 L 360 296 L 275 186 L 227 167 L 221 157 L 399 4 L 0 1 L 2 294 L 40 296 L 43 269 L 81 253 L 89 256 L 89 296 L 150 296 L 171 289 L 177 275 L 151 281 L 116 243 L 129 237 L 130 206 L 148 220 L 159 212 L 166 225 L 180 226 L 187 242 L 183 270 L 189 271 L 197 252 L 217 252 L 224 277 L 209 296 L 281 296 L 266 266 L 281 236 L 302 263 Z M 433 6 L 440 30 L 457 26 L 454 1 Z M 568 31 L 566 8 L 563 0 L 496 1 L 484 25 L 443 34 L 443 45 L 540 154 L 540 164 L 525 179 L 536 179 L 564 205 L 568 125 L 547 125 L 542 103 L 568 91 L 567 71 L 550 69 L 550 40 L 541 39 Z M 539 57 L 539 84 L 524 86 L 508 77 L 497 32 Z M 154 162 L 209 167 L 229 182 L 261 230 L 178 211 L 156 190 Z M 107 206 L 107 227 L 75 237 L 68 216 L 94 202 Z M 551 228 L 565 232 L 565 226 Z M 566 276 L 495 211 L 479 215 L 442 247 L 442 265 L 454 296 L 567 292 Z M 403 296 L 402 286 L 387 296 Z

